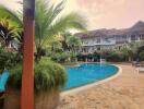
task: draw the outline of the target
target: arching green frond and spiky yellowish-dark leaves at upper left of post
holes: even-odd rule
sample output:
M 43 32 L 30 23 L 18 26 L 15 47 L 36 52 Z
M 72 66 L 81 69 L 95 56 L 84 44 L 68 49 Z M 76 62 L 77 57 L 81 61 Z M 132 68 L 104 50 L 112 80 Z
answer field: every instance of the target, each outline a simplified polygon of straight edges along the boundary
M 13 40 L 22 45 L 22 19 L 3 5 L 0 5 L 0 44 L 2 47 L 9 47 Z M 21 40 L 21 41 L 20 41 Z M 20 45 L 20 46 L 21 46 Z M 19 48 L 19 47 L 16 47 Z

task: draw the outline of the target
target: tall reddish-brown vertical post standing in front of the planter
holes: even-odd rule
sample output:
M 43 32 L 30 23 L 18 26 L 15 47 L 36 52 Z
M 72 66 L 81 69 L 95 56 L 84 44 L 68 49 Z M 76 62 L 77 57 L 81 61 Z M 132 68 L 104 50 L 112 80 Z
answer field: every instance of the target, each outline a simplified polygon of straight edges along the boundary
M 24 0 L 24 41 L 21 109 L 34 109 L 35 0 Z

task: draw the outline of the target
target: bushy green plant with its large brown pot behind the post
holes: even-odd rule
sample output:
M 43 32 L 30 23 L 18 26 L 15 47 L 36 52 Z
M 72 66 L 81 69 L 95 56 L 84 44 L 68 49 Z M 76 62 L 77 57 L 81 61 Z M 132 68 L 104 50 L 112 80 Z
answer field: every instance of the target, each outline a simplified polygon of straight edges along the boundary
M 10 70 L 11 77 L 4 99 L 4 109 L 20 109 L 22 64 Z M 34 107 L 53 109 L 59 102 L 60 88 L 67 82 L 65 70 L 48 58 L 35 62 L 34 69 Z

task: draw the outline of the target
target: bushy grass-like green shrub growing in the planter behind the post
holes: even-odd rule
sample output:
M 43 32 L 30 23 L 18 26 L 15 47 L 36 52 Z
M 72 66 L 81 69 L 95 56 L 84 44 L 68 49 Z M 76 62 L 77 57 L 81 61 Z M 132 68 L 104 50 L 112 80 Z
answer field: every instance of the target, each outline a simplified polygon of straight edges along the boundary
M 17 64 L 11 72 L 10 86 L 20 88 L 22 81 L 22 65 Z M 62 65 L 50 61 L 48 58 L 41 58 L 35 63 L 34 87 L 35 92 L 50 92 L 63 87 L 67 82 L 67 73 Z

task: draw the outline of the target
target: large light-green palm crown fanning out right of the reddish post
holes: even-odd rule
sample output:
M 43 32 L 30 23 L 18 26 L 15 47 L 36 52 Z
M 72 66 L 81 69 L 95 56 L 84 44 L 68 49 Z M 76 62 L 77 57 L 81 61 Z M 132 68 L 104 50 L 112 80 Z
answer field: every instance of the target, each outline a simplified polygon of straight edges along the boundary
M 77 13 L 61 16 L 64 1 L 53 5 L 45 0 L 36 0 L 36 49 L 37 58 L 48 40 L 57 34 L 63 34 L 71 28 L 86 31 L 85 20 Z

